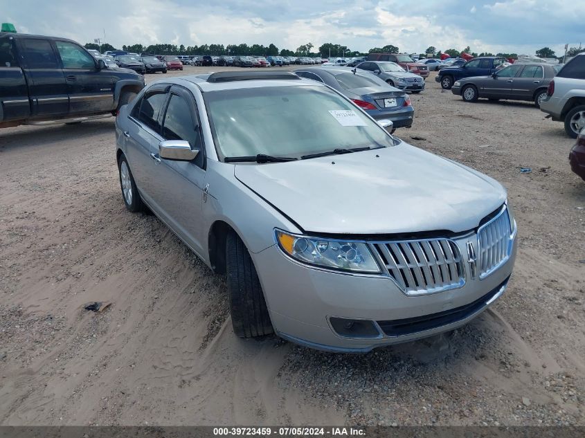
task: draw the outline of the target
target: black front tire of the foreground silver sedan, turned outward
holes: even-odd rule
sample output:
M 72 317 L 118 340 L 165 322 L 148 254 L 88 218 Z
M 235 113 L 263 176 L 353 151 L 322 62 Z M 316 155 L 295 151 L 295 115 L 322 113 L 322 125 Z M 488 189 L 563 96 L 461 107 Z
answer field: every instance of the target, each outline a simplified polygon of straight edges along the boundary
M 240 338 L 272 334 L 274 330 L 252 258 L 233 231 L 226 239 L 226 273 L 234 333 Z

